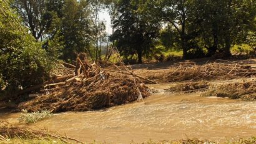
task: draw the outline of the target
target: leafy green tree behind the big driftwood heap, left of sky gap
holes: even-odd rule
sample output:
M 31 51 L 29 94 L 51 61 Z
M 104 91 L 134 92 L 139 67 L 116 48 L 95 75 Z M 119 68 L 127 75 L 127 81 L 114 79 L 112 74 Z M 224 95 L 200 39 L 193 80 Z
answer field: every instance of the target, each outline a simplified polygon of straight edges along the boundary
M 64 1 L 60 26 L 61 41 L 65 45 L 62 56 L 64 60 L 74 60 L 80 52 L 91 54 L 91 22 L 88 9 L 87 1 Z

